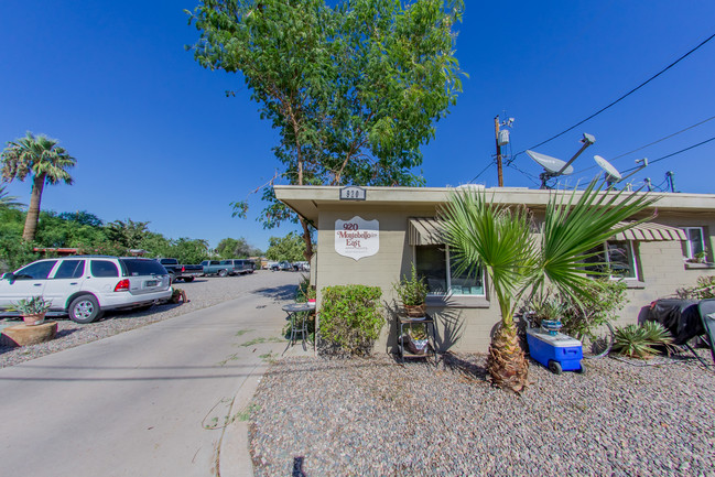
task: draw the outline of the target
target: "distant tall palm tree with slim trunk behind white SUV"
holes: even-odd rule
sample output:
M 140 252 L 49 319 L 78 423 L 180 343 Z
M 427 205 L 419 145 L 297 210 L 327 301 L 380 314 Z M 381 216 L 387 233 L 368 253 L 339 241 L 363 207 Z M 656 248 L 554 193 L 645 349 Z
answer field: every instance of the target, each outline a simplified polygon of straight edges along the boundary
M 28 175 L 32 175 L 30 208 L 22 232 L 22 239 L 25 241 L 32 241 L 35 238 L 42 191 L 45 184 L 58 182 L 72 184 L 73 182 L 66 170 L 73 167 L 77 161 L 57 145 L 57 140 L 45 135 L 35 137 L 28 131 L 24 138 L 8 142 L 8 148 L 0 155 L 3 181 L 11 182 L 14 178 L 24 181 Z

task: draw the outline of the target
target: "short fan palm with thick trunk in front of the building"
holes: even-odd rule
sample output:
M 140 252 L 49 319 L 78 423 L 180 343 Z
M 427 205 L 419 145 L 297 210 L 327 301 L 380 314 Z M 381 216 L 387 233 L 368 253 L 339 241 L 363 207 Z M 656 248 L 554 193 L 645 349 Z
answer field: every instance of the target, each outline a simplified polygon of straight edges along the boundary
M 649 220 L 619 224 L 658 200 L 647 194 L 602 193 L 600 188 L 594 180 L 577 200 L 574 192 L 567 202 L 566 194 L 554 193 L 539 228 L 524 206 L 496 204 L 484 191 L 455 193 L 443 208 L 457 268 L 484 267 L 499 302 L 501 324 L 487 358 L 496 386 L 518 392 L 527 384 L 529 364 L 513 321 L 524 293 L 551 284 L 581 302 L 589 283 L 583 260 L 594 257 L 591 251 L 614 235 Z

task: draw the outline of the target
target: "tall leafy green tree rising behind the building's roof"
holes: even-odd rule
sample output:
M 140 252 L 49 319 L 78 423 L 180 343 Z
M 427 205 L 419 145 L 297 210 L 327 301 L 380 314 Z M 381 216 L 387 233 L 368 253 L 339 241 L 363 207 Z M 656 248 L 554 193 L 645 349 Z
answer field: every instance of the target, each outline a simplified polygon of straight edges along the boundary
M 202 0 L 196 61 L 240 73 L 280 131 L 274 181 L 297 185 L 423 185 L 420 147 L 462 89 L 454 24 L 462 0 Z M 336 3 L 336 2 L 331 2 Z M 308 224 L 263 189 L 261 220 Z M 247 203 L 231 204 L 245 216 Z

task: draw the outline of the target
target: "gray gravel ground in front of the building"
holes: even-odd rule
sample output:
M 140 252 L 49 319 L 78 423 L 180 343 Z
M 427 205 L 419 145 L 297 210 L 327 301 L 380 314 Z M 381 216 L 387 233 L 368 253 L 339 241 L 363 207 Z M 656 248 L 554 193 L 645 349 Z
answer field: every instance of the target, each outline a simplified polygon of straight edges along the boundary
M 532 361 L 521 395 L 489 386 L 483 355 L 283 359 L 252 405 L 256 475 L 303 457 L 306 476 L 715 476 L 715 373 L 658 359 Z

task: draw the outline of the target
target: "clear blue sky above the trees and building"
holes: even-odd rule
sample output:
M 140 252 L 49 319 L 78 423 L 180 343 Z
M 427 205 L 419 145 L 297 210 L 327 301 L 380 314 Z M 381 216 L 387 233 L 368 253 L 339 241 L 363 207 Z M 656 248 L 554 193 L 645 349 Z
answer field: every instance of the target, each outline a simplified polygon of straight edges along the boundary
M 279 163 L 277 134 L 259 119 L 238 75 L 203 69 L 184 45 L 187 0 L 3 0 L 0 4 L 0 141 L 30 130 L 59 139 L 77 159 L 75 184 L 45 188 L 43 209 L 131 218 L 171 238 L 245 237 L 263 248 L 289 225 L 263 230 L 229 203 L 266 183 Z M 712 0 L 466 1 L 456 55 L 464 93 L 423 148 L 429 186 L 472 181 L 492 160 L 494 117 L 513 117 L 512 152 L 588 117 L 715 33 Z M 715 40 L 618 105 L 538 148 L 568 159 L 583 132 L 596 137 L 565 185 L 597 173 L 606 159 L 715 116 Z M 224 91 L 238 90 L 235 98 Z M 715 120 L 615 160 L 630 169 L 715 137 Z M 632 177 L 654 185 L 667 171 L 682 192 L 713 193 L 715 141 L 660 161 Z M 505 185 L 538 187 L 524 154 Z M 477 183 L 497 184 L 496 166 Z M 30 183 L 12 195 L 29 203 Z

